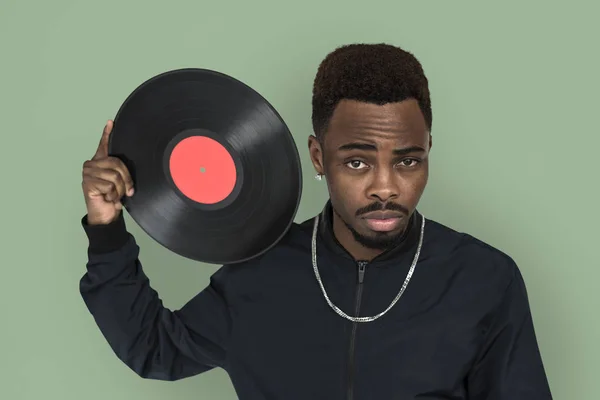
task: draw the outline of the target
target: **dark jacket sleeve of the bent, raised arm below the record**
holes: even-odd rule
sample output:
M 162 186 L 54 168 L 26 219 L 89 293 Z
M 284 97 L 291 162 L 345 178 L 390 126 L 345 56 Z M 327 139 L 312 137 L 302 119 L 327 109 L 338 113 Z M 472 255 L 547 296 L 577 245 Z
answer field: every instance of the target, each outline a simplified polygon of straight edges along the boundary
M 165 308 L 138 258 L 123 216 L 88 225 L 80 293 L 115 354 L 143 378 L 174 381 L 223 367 L 230 329 L 224 268 L 182 309 Z

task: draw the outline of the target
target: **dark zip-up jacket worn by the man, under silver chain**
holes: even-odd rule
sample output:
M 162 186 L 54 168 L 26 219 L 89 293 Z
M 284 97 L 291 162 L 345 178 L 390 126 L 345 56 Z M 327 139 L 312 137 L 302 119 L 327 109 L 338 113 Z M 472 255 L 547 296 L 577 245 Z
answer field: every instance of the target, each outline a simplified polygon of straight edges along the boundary
M 400 290 L 419 239 L 358 263 L 321 214 L 318 267 L 331 301 L 350 315 L 383 311 Z M 221 267 L 182 309 L 149 286 L 123 218 L 83 227 L 81 295 L 116 355 L 143 378 L 178 380 L 215 367 L 240 399 L 548 400 L 525 284 L 506 254 L 427 219 L 419 262 L 400 301 L 352 323 L 326 303 L 311 262 L 312 219 L 276 247 Z

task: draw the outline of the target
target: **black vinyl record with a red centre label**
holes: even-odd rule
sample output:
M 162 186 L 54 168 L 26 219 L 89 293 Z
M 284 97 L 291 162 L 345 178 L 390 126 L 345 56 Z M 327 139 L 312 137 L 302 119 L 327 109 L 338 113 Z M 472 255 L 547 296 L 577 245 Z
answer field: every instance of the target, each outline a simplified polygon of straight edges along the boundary
M 109 153 L 132 175 L 133 220 L 183 257 L 234 264 L 272 248 L 293 223 L 300 157 L 277 111 L 225 74 L 157 75 L 123 103 Z

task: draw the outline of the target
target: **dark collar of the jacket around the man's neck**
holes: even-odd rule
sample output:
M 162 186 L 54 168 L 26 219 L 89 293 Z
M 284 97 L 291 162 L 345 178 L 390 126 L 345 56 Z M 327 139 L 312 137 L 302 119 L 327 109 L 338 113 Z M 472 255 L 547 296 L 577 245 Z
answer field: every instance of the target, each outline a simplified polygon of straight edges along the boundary
M 402 240 L 398 245 L 381 253 L 373 260 L 371 264 L 386 263 L 390 261 L 399 261 L 408 255 L 412 256 L 410 250 L 417 244 L 420 235 L 421 219 L 423 216 L 415 210 L 411 215 L 407 229 L 405 230 Z M 328 250 L 334 254 L 353 260 L 353 257 L 348 251 L 338 242 L 333 232 L 333 207 L 331 200 L 328 200 L 319 216 L 319 237 L 327 246 Z

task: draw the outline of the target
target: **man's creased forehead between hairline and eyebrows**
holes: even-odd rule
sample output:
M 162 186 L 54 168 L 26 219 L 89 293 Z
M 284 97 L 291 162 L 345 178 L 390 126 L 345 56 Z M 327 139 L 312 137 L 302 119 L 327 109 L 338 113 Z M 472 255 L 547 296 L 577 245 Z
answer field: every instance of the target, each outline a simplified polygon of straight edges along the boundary
M 353 140 L 424 145 L 428 139 L 425 118 L 413 99 L 384 105 L 343 100 L 325 135 L 334 145 Z

